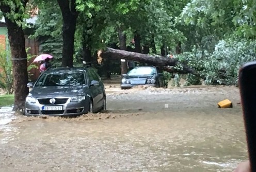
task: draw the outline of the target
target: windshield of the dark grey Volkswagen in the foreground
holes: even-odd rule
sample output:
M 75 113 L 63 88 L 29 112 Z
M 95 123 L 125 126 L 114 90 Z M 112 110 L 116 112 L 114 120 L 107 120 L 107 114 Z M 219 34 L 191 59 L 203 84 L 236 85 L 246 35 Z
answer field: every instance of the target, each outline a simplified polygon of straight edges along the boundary
M 36 87 L 70 86 L 86 84 L 83 72 L 54 72 L 43 74 L 36 83 Z

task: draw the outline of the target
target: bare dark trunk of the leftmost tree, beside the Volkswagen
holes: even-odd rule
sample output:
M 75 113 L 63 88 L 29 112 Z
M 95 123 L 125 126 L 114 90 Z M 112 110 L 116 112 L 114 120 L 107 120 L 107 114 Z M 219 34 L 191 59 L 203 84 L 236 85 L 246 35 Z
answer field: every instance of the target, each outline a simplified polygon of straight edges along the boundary
M 2 10 L 2 9 L 1 9 Z M 25 49 L 25 37 L 22 26 L 12 22 L 5 16 L 8 29 L 8 38 L 11 48 L 14 111 L 24 110 L 25 99 L 28 94 L 27 82 L 27 54 Z

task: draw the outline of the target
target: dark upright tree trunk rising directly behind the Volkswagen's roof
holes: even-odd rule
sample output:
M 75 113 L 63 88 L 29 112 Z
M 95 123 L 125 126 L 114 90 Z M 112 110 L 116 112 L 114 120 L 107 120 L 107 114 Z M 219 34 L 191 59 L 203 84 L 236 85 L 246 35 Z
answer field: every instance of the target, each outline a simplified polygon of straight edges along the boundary
M 58 0 L 63 18 L 62 27 L 62 66 L 73 66 L 74 37 L 78 12 L 75 9 L 75 0 Z M 71 4 L 71 6 L 70 6 Z

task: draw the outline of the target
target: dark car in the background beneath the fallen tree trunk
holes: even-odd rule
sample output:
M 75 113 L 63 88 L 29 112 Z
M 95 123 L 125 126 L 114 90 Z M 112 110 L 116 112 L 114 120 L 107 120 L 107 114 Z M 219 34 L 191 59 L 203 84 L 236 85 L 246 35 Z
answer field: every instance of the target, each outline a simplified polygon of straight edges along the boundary
M 162 73 L 159 73 L 154 66 L 135 67 L 121 80 L 121 89 L 129 89 L 134 85 L 149 85 L 153 87 L 165 87 L 165 80 Z

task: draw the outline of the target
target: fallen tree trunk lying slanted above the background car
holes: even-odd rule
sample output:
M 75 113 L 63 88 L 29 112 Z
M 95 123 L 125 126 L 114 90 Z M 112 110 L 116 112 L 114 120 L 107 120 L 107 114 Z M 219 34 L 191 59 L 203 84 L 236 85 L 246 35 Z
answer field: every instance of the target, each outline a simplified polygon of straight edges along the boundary
M 179 73 L 179 74 L 193 74 L 203 80 L 206 79 L 205 76 L 201 76 L 200 73 L 196 70 L 194 70 L 191 67 L 188 67 L 185 64 L 180 63 L 175 58 L 163 58 L 163 57 L 156 57 L 146 54 L 140 54 L 140 53 L 134 53 L 130 51 L 125 50 L 119 50 L 114 48 L 107 48 L 106 50 L 98 51 L 98 63 L 101 64 L 102 60 L 104 58 L 109 59 L 125 59 L 125 60 L 133 60 L 138 62 L 143 62 L 147 64 L 151 64 L 154 66 L 158 66 L 162 68 L 164 71 L 169 73 Z M 173 68 L 175 66 L 180 66 L 181 69 Z M 212 78 L 214 83 L 218 83 L 218 80 L 215 78 Z M 222 84 L 226 84 L 222 82 Z

